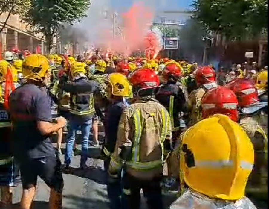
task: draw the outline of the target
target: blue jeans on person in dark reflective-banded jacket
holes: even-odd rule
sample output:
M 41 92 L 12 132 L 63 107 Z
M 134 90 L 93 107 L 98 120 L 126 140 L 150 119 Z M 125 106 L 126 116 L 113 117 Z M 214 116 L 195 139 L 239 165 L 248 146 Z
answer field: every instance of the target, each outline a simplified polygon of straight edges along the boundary
M 82 141 L 81 141 L 82 152 L 80 157 L 80 166 L 83 166 L 86 164 L 88 158 L 91 119 L 87 121 L 78 121 L 71 118 L 69 120 L 68 135 L 66 139 L 66 150 L 65 150 L 65 165 L 68 166 L 71 163 L 71 157 L 77 130 L 81 130 L 82 134 Z

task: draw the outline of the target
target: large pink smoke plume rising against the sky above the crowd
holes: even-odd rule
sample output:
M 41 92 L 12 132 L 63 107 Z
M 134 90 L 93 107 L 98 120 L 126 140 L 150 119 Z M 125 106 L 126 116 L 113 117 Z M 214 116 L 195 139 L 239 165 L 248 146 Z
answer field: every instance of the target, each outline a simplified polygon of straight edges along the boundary
M 138 49 L 145 50 L 147 46 L 144 37 L 147 36 L 154 18 L 151 8 L 146 8 L 143 2 L 137 2 L 128 12 L 123 13 L 122 17 L 122 36 L 113 37 L 111 31 L 103 31 L 102 47 L 108 51 L 123 53 L 124 56 Z

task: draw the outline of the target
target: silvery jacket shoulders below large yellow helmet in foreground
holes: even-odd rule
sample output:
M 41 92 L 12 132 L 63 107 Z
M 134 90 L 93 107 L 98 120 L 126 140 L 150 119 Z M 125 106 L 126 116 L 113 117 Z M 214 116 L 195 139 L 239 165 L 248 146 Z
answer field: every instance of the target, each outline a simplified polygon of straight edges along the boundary
M 187 190 L 170 209 L 257 209 L 247 198 L 243 197 L 235 202 L 213 199 L 193 190 Z

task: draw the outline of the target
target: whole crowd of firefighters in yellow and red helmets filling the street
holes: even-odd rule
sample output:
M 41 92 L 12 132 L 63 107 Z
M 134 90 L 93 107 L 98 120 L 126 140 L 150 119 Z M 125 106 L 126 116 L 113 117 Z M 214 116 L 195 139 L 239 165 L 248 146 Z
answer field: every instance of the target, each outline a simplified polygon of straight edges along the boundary
M 49 208 L 62 208 L 62 172 L 70 172 L 76 131 L 80 169 L 87 169 L 89 135 L 102 122 L 111 209 L 163 208 L 165 185 L 180 196 L 171 209 L 255 209 L 245 188 L 267 189 L 267 69 L 218 85 L 211 66 L 93 54 L 6 52 L 0 60 L 1 204 L 23 185 L 22 209 L 32 206 L 37 176 L 51 188 Z M 51 101 L 59 118 L 52 119 Z M 64 166 L 62 129 L 68 121 Z M 58 134 L 56 152 L 50 137 Z M 98 140 L 94 134 L 94 143 Z M 53 151 L 52 151 L 53 150 Z

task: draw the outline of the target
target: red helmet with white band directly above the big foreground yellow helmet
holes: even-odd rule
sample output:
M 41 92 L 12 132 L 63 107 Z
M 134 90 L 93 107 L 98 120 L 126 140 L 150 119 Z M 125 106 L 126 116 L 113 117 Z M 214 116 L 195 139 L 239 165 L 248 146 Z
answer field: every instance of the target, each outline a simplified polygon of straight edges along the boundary
M 223 114 L 235 122 L 239 120 L 238 100 L 235 93 L 223 86 L 209 90 L 202 99 L 202 118 Z

